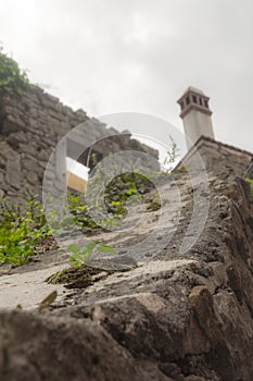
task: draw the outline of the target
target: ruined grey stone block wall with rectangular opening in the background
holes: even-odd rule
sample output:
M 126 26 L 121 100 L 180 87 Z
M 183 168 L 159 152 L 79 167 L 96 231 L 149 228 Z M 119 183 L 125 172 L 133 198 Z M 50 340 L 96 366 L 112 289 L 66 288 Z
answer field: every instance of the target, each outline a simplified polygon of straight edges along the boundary
M 81 136 L 77 134 L 61 156 L 64 175 L 65 155 L 71 156 L 78 142 L 85 150 L 93 142 L 115 134 L 118 138 L 114 137 L 111 147 L 114 151 L 137 149 L 157 158 L 156 150 L 131 139 L 130 135 L 106 128 L 105 124 L 87 116 L 83 110 L 73 111 L 58 98 L 31 86 L 23 96 L 7 95 L 0 105 L 0 197 L 23 201 L 27 197 L 26 187 L 33 195 L 41 195 L 45 169 L 53 149 L 80 123 L 84 123 Z M 100 159 L 109 147 L 98 147 Z

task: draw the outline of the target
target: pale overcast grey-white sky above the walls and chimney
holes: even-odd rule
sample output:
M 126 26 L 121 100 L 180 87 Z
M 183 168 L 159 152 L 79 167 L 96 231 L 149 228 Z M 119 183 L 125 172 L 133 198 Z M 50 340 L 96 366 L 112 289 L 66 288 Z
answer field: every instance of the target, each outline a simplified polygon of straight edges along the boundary
M 176 101 L 191 85 L 211 97 L 216 139 L 251 151 L 252 40 L 252 0 L 0 2 L 4 51 L 64 103 L 182 130 Z

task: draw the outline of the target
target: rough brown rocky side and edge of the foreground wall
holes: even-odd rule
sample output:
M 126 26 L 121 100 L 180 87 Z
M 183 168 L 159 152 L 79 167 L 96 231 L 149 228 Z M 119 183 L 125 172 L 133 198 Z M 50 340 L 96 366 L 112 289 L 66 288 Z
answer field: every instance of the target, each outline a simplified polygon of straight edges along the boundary
M 210 172 L 208 219 L 184 255 L 192 188 L 184 174 L 177 184 L 179 224 L 150 261 L 72 290 L 41 314 L 0 311 L 1 380 L 253 380 L 246 183 L 228 169 Z

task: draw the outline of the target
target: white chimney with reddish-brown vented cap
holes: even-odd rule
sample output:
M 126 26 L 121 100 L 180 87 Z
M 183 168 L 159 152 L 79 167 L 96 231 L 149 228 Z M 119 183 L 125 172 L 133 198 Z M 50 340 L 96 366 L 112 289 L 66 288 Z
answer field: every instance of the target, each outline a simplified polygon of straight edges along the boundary
M 182 119 L 188 149 L 202 136 L 214 139 L 212 111 L 208 108 L 210 98 L 203 91 L 189 87 L 177 101 L 181 107 Z

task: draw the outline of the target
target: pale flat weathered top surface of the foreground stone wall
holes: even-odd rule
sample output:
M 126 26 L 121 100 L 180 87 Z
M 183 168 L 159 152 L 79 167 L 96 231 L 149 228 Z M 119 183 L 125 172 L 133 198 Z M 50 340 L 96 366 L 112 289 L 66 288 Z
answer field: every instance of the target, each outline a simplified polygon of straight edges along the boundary
M 179 187 L 181 187 L 180 190 L 184 190 L 185 197 L 179 196 L 179 188 L 174 186 L 173 182 L 161 187 L 162 210 L 142 211 L 141 213 L 138 208 L 134 207 L 131 210 L 134 213 L 129 213 L 126 219 L 126 222 L 138 220 L 131 229 L 100 233 L 89 237 L 89 241 L 101 241 L 103 244 L 112 245 L 117 248 L 118 253 L 117 255 L 110 256 L 101 256 L 100 254 L 98 263 L 97 258 L 91 260 L 92 266 L 121 270 L 141 263 L 148 265 L 150 261 L 155 260 L 155 256 L 167 245 L 177 225 L 180 224 L 181 226 L 182 224 L 184 218 L 182 216 L 179 217 L 180 209 L 186 214 L 191 204 L 191 193 L 188 189 L 189 183 L 181 181 Z M 182 231 L 181 234 L 184 234 Z M 71 243 L 83 247 L 86 241 L 87 237 L 81 234 L 76 237 L 68 237 L 67 239 L 65 237 L 62 247 L 67 247 Z M 176 239 L 175 243 L 177 241 L 179 242 L 181 239 Z M 174 249 L 176 249 L 176 245 L 174 245 Z M 181 267 L 186 265 L 185 260 L 175 260 L 182 258 L 174 256 L 173 250 L 170 254 L 166 250 L 165 257 L 166 259 L 164 259 L 168 260 L 164 262 L 167 263 L 166 266 Z M 172 262 L 170 265 L 169 260 Z M 4 269 L 8 270 L 7 267 L 2 267 L 0 269 L 0 308 L 13 309 L 17 305 L 21 305 L 23 309 L 38 308 L 39 304 L 54 290 L 58 291 L 56 303 L 61 305 L 61 302 L 66 299 L 65 296 L 67 296 L 63 285 L 48 284 L 45 280 L 66 267 L 68 267 L 68 254 L 63 249 L 37 255 L 33 258 L 31 262 L 12 269 L 7 274 L 1 273 Z M 153 269 L 156 269 L 156 267 L 154 266 Z M 126 273 L 121 276 L 125 278 L 129 275 L 130 273 Z M 116 279 L 117 275 L 115 274 L 114 278 Z M 110 276 L 109 282 L 113 282 L 114 278 Z M 99 284 L 105 285 L 101 281 Z

